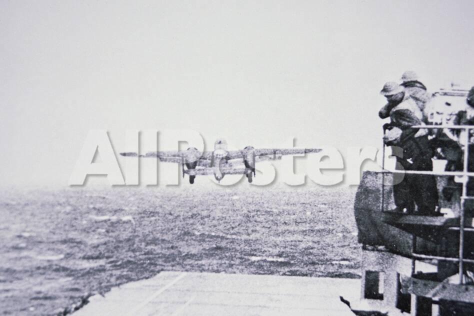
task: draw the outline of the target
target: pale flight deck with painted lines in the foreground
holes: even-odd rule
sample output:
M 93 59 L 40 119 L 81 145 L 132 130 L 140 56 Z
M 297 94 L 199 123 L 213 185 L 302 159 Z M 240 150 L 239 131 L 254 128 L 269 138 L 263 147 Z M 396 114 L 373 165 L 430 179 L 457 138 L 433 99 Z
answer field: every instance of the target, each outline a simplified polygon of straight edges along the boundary
M 352 316 L 339 295 L 359 298 L 359 279 L 163 271 L 95 295 L 74 315 Z

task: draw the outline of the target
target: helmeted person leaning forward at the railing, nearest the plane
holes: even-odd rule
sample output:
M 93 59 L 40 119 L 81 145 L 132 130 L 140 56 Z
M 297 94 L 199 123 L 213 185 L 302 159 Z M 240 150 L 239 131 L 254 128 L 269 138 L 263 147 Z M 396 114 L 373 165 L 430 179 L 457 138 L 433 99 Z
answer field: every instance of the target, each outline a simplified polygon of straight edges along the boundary
M 396 157 L 396 169 L 432 171 L 433 150 L 428 142 L 427 131 L 411 128 L 423 124 L 423 114 L 415 101 L 396 82 L 385 83 L 380 94 L 386 97 L 388 103 L 378 115 L 380 118 L 390 117 L 390 123 L 383 125 L 384 142 L 403 150 Z M 393 199 L 397 211 L 414 213 L 416 204 L 417 214 L 434 214 L 438 204 L 436 178 L 433 175 L 405 173 L 401 182 L 393 185 Z

